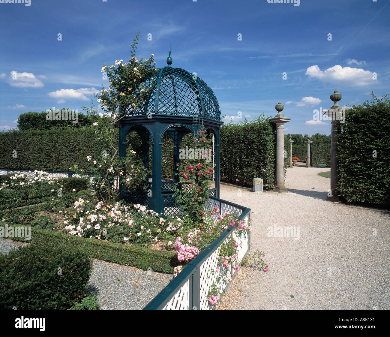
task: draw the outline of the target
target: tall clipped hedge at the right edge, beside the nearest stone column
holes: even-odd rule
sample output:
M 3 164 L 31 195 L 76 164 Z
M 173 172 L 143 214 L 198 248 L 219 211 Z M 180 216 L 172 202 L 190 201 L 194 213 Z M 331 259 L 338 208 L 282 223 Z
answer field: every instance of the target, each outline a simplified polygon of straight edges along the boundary
M 389 116 L 387 95 L 373 95 L 347 109 L 345 122 L 337 123 L 337 195 L 347 202 L 390 206 Z

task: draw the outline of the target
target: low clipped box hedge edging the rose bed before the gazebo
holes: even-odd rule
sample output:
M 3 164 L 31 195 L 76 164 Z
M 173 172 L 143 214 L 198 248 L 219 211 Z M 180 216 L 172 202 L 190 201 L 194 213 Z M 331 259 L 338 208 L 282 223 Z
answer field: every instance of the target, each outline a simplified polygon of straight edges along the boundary
M 0 222 L 0 226 L 5 226 L 5 224 L 5 222 Z M 80 238 L 79 236 L 73 236 L 63 232 L 55 232 L 36 227 L 31 227 L 31 239 L 29 241 L 26 241 L 25 238 L 9 239 L 29 242 L 35 245 L 52 245 L 55 247 L 63 245 L 79 249 L 95 259 L 132 266 L 143 270 L 150 270 L 149 268 L 151 268 L 152 271 L 168 274 L 172 274 L 174 267 L 181 264 L 177 260 L 177 253 L 174 252 L 135 247 L 133 245 L 122 245 L 120 243 L 97 239 Z

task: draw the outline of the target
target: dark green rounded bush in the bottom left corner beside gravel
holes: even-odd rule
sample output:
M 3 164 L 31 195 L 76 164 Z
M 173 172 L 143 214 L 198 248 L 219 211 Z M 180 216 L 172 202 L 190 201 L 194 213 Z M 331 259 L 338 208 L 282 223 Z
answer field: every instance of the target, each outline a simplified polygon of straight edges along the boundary
M 86 254 L 63 246 L 0 254 L 0 309 L 69 309 L 87 293 L 91 270 Z

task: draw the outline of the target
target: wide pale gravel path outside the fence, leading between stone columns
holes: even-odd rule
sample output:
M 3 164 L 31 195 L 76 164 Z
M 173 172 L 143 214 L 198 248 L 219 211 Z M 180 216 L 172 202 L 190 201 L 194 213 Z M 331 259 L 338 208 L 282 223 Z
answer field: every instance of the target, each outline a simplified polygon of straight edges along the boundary
M 250 253 L 264 251 L 269 271 L 243 268 L 218 309 L 390 309 L 390 212 L 326 200 L 326 170 L 287 169 L 282 194 L 221 187 L 252 209 Z M 268 236 L 275 224 L 299 226 L 299 240 Z

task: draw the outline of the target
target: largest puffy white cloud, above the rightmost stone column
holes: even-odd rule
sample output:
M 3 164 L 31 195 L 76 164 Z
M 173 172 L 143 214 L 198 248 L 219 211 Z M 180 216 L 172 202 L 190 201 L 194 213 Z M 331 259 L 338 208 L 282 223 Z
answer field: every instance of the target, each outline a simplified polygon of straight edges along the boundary
M 372 84 L 372 72 L 361 68 L 351 68 L 342 66 L 333 66 L 321 71 L 319 67 L 311 66 L 306 70 L 305 75 L 317 78 L 323 82 L 342 82 L 351 86 L 362 86 Z

